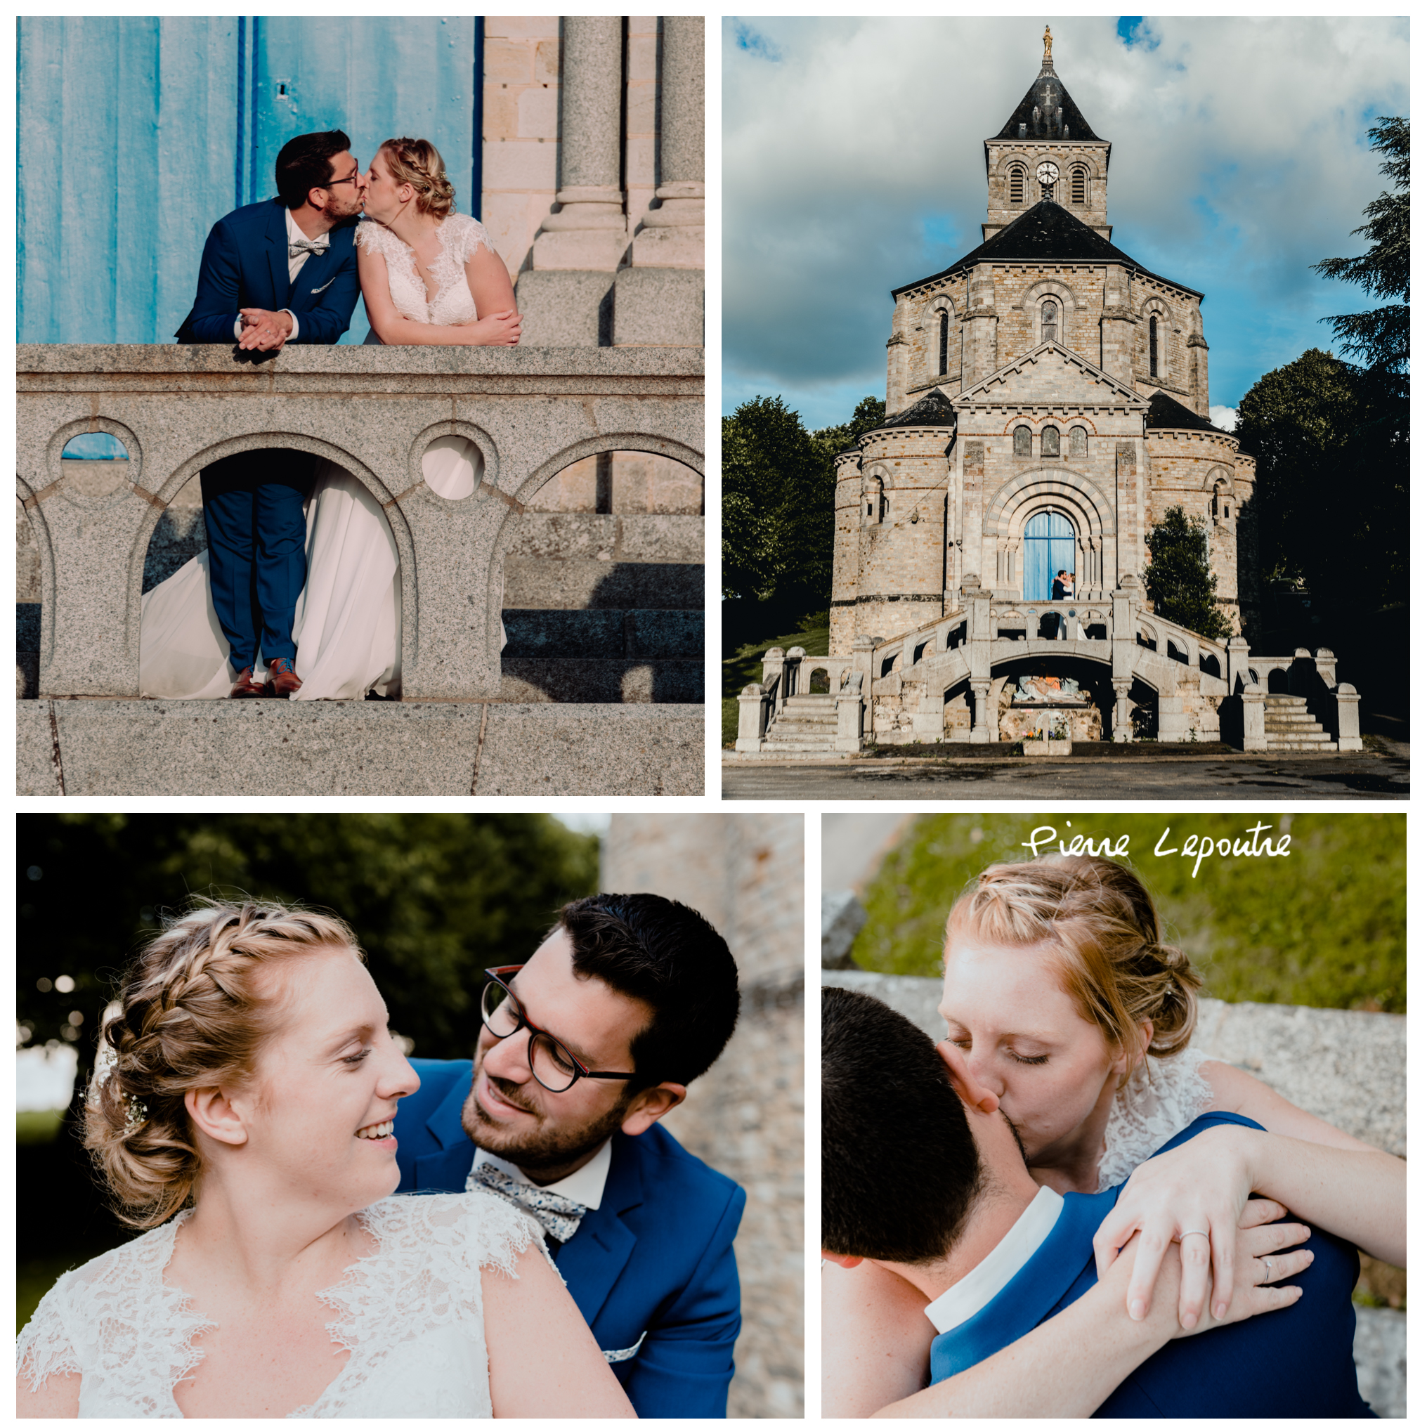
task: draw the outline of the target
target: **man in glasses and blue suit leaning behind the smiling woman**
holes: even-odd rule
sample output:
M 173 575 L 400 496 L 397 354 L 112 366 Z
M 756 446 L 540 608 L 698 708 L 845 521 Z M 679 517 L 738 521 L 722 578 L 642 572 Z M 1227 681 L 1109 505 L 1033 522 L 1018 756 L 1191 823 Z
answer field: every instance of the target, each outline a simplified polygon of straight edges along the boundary
M 412 1060 L 398 1193 L 484 1189 L 545 1230 L 641 1417 L 723 1417 L 743 1190 L 662 1124 L 738 1019 L 738 970 L 698 912 L 572 902 L 522 966 L 485 973 L 471 1060 Z

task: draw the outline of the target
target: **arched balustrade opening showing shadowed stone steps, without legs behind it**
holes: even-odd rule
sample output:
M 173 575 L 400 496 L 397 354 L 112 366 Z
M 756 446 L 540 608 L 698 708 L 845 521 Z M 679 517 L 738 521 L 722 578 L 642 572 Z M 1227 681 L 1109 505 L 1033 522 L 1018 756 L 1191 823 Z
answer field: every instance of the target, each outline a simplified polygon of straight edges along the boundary
M 635 448 L 524 491 L 499 541 L 502 698 L 702 704 L 704 505 L 701 471 Z

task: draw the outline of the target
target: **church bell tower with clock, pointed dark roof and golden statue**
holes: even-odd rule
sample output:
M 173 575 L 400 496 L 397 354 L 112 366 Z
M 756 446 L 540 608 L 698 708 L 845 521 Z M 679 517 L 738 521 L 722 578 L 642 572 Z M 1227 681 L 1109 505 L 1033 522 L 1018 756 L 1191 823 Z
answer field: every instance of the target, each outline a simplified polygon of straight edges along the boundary
M 986 140 L 986 221 L 982 241 L 1052 198 L 1102 238 L 1110 237 L 1106 184 L 1110 146 L 1097 138 L 1046 53 L 1036 83 L 995 138 Z

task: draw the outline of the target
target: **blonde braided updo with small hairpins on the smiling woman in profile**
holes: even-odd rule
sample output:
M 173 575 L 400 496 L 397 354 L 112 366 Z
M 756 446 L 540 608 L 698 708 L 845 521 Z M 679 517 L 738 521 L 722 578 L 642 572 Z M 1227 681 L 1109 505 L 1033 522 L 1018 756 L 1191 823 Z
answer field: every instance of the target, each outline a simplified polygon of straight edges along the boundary
M 188 1203 L 203 1160 L 184 1095 L 248 1086 L 283 1017 L 271 969 L 330 949 L 362 955 L 337 916 L 195 898 L 138 953 L 100 1032 L 84 1117 L 124 1223 L 148 1229 Z

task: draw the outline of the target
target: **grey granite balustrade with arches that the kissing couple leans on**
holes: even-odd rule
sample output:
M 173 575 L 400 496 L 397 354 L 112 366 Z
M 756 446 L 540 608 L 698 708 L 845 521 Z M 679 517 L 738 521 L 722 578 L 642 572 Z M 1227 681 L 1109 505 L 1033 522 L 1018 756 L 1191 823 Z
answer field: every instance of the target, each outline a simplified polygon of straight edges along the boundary
M 16 365 L 41 698 L 137 696 L 150 538 L 195 472 L 237 451 L 328 457 L 381 502 L 401 561 L 405 701 L 498 694 L 502 562 L 524 502 L 551 475 L 604 451 L 704 469 L 704 355 L 686 347 L 291 347 L 243 360 L 228 347 L 21 345 Z M 128 455 L 103 497 L 61 471 L 86 431 Z M 464 499 L 421 477 L 444 435 L 481 451 Z

